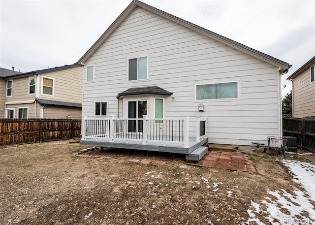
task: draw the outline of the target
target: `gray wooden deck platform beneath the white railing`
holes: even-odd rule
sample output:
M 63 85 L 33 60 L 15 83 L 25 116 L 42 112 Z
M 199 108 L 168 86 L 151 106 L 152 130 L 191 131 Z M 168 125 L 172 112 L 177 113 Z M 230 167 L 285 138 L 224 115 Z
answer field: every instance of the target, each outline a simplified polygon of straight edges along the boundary
M 100 140 L 98 138 L 88 138 L 86 140 L 81 140 L 82 145 L 94 145 L 99 147 L 113 147 L 113 148 L 124 148 L 124 149 L 136 149 L 144 151 L 154 151 L 154 152 L 168 152 L 176 154 L 190 154 L 195 149 L 206 144 L 208 138 L 203 138 L 199 142 L 196 141 L 195 137 L 189 137 L 189 147 L 183 147 L 181 144 L 168 143 L 168 142 L 150 142 L 148 144 L 142 144 L 142 139 L 140 140 L 124 140 L 118 139 L 114 142 L 109 142 L 107 140 Z

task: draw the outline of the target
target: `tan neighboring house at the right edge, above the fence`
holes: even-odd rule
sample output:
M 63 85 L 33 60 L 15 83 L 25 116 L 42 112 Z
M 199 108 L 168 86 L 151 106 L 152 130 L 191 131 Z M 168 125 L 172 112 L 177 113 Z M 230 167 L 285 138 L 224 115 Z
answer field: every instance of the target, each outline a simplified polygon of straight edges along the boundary
M 293 117 L 315 116 L 315 56 L 287 79 L 292 81 Z

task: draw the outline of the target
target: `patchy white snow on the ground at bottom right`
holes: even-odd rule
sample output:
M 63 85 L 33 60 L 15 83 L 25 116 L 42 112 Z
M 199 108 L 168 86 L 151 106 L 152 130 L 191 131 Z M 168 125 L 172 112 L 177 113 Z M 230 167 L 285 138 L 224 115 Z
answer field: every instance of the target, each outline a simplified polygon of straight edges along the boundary
M 315 210 L 312 204 L 315 199 L 315 163 L 290 160 L 282 160 L 282 163 L 290 171 L 293 181 L 305 191 L 301 191 L 296 187 L 293 187 L 293 194 L 287 193 L 284 189 L 281 189 L 281 191 L 268 190 L 267 193 L 272 195 L 273 198 L 265 196 L 261 204 L 252 201 L 253 210 L 247 210 L 250 218 L 243 224 L 256 222 L 258 225 L 263 225 L 256 218 L 256 215 L 261 213 L 268 214 L 266 219 L 273 225 L 312 225 L 315 223 Z M 265 210 L 262 210 L 262 208 Z

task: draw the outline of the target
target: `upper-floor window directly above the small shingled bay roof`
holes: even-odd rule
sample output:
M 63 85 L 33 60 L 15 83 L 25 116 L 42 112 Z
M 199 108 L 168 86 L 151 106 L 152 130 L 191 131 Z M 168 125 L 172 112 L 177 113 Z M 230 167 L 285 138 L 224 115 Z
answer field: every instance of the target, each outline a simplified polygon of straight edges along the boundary
M 129 59 L 128 80 L 148 79 L 148 57 Z

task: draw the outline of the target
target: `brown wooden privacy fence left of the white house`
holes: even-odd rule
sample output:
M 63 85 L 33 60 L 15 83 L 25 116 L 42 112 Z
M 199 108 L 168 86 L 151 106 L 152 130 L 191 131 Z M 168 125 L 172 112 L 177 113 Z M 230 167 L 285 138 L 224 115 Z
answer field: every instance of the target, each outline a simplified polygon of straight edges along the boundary
M 0 146 L 80 137 L 81 120 L 0 119 Z

